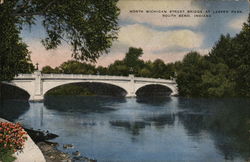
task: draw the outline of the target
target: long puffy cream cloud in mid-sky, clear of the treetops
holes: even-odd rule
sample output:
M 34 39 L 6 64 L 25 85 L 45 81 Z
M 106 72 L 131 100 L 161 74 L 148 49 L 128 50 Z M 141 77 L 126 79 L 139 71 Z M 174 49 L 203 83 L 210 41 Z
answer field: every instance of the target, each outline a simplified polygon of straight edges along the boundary
M 158 31 L 134 24 L 121 28 L 118 41 L 128 47 L 141 47 L 146 51 L 156 52 L 166 48 L 198 48 L 203 43 L 203 35 L 191 30 Z

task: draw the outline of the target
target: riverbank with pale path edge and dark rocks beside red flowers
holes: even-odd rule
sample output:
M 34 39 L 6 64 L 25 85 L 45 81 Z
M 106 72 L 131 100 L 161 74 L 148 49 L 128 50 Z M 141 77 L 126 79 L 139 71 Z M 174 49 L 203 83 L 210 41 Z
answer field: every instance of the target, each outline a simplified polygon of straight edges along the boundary
M 0 118 L 0 122 L 9 121 Z M 26 128 L 24 130 L 28 133 L 27 141 L 22 152 L 13 155 L 16 158 L 15 162 L 96 162 L 96 160 L 80 156 L 80 152 L 70 155 L 58 150 L 58 143 L 47 141 L 58 137 L 56 134 Z M 68 144 L 68 146 L 71 145 Z

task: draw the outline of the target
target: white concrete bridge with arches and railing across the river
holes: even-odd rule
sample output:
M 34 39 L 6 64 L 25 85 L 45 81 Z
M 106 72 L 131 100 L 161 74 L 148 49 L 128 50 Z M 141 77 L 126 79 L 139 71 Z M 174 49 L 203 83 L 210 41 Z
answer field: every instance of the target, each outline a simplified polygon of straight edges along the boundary
M 174 80 L 153 79 L 125 76 L 105 76 L 105 75 L 79 75 L 79 74 L 41 74 L 36 71 L 34 74 L 19 74 L 11 82 L 4 82 L 12 86 L 23 89 L 30 95 L 30 100 L 39 101 L 44 99 L 44 95 L 49 90 L 71 83 L 106 83 L 122 88 L 127 92 L 126 97 L 135 97 L 136 91 L 147 85 L 162 85 L 168 87 L 171 95 L 177 95 L 177 84 Z

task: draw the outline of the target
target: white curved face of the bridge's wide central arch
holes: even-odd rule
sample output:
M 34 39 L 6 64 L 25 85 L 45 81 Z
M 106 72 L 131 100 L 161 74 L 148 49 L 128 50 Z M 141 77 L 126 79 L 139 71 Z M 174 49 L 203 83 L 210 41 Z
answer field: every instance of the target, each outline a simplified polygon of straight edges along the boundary
M 81 83 L 93 83 L 93 84 L 106 84 L 106 85 L 110 85 L 110 86 L 114 86 L 120 90 L 122 90 L 124 92 L 124 96 L 126 96 L 128 94 L 127 90 L 126 90 L 126 87 L 124 87 L 123 85 L 121 84 L 116 84 L 116 83 L 112 83 L 112 82 L 108 82 L 108 81 L 67 81 L 67 82 L 60 82 L 60 81 L 57 81 L 57 82 L 44 82 L 43 84 L 45 85 L 44 86 L 44 89 L 43 89 L 43 95 L 45 96 L 50 90 L 52 89 L 55 89 L 57 87 L 60 87 L 60 86 L 64 86 L 64 85 L 70 85 L 70 84 L 81 84 Z

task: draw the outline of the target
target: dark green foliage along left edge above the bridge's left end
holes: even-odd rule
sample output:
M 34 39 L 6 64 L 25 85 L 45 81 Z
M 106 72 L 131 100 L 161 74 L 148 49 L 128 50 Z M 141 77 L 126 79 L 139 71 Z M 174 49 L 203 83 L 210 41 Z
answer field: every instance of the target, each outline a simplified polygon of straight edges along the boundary
M 30 62 L 27 45 L 19 37 L 20 30 L 15 25 L 17 19 L 10 17 L 9 8 L 0 5 L 0 81 L 9 81 L 18 73 L 31 73 L 34 66 Z

